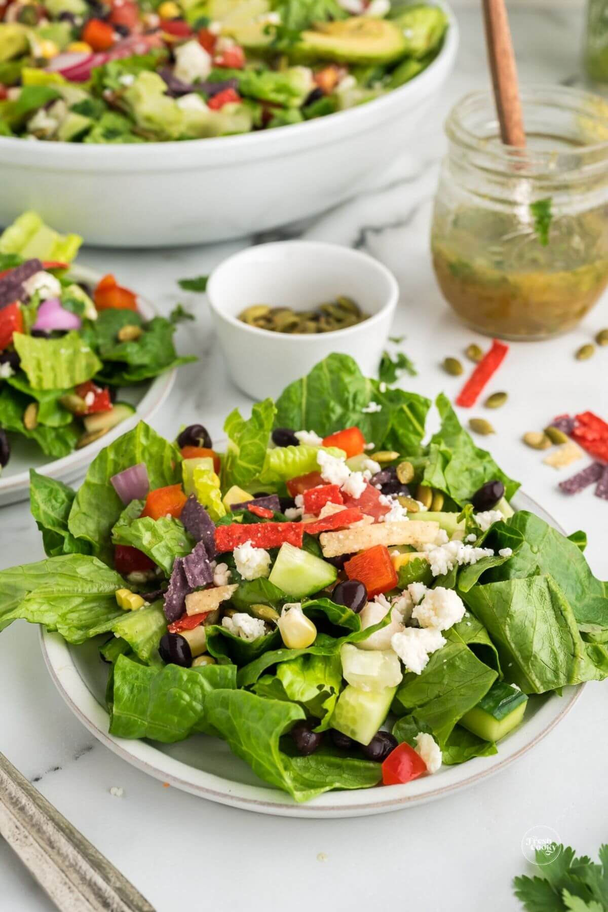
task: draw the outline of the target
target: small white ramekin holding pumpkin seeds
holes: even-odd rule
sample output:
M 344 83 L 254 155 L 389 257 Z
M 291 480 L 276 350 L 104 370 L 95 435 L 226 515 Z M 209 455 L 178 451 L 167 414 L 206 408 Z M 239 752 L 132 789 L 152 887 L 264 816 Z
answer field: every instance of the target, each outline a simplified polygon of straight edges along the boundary
M 211 273 L 207 294 L 234 383 L 252 399 L 265 399 L 332 352 L 351 355 L 366 376 L 376 376 L 399 288 L 386 266 L 367 254 L 337 244 L 282 241 L 224 260 Z M 369 318 L 314 336 L 274 333 L 238 319 L 254 304 L 307 310 L 337 295 L 352 297 Z

